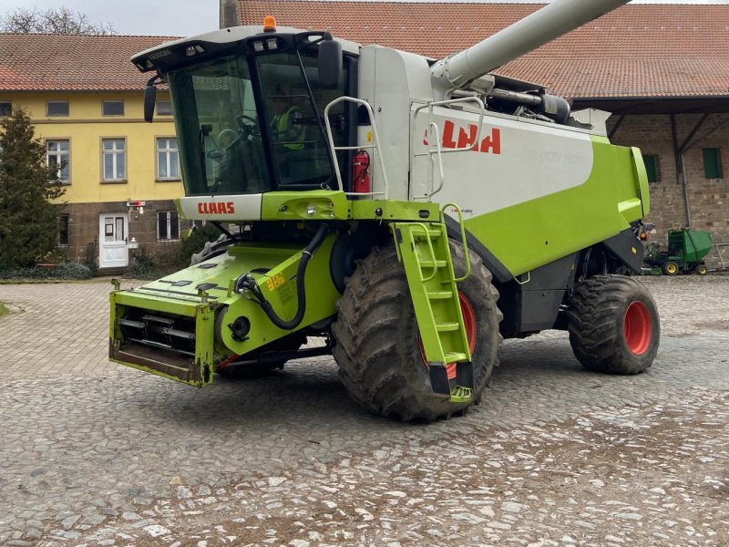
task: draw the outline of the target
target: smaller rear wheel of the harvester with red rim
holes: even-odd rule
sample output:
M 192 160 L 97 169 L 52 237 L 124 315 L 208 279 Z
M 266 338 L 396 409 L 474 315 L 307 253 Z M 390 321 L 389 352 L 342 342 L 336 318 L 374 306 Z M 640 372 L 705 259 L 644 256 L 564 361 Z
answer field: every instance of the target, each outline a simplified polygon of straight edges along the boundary
M 661 324 L 651 293 L 635 278 L 590 277 L 575 289 L 567 315 L 572 351 L 585 368 L 639 374 L 652 365 Z

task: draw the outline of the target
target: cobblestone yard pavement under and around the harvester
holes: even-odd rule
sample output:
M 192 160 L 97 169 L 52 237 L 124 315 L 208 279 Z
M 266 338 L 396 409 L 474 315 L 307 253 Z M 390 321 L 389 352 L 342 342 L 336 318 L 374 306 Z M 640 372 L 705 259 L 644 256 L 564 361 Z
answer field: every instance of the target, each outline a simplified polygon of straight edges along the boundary
M 727 545 L 729 277 L 642 281 L 648 372 L 507 341 L 430 426 L 366 414 L 331 358 L 202 390 L 112 365 L 110 285 L 0 285 L 0 544 Z

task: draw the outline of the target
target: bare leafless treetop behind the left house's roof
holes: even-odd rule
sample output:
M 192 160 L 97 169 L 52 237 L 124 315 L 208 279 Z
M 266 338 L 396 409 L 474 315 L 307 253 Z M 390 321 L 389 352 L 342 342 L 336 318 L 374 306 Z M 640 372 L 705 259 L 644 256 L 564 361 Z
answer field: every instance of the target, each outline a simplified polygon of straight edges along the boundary
M 0 31 L 15 34 L 111 35 L 110 23 L 91 23 L 86 14 L 67 7 L 18 7 L 0 19 Z

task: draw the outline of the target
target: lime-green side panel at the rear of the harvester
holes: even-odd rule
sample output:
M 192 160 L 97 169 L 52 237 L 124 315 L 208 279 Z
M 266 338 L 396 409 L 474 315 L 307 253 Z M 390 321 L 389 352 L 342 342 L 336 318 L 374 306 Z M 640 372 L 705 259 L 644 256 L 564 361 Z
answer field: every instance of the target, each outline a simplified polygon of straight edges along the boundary
M 648 203 L 647 182 L 642 191 L 642 159 L 600 137 L 592 137 L 592 147 L 592 171 L 584 184 L 466 221 L 467 230 L 511 274 L 524 274 L 600 243 L 642 218 Z

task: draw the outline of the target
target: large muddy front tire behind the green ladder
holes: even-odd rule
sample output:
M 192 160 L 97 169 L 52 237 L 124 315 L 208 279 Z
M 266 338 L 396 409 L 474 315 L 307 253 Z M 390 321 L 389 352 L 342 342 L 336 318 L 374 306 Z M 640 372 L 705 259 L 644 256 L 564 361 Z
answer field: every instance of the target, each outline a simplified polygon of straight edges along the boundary
M 462 275 L 466 263 L 463 247 L 454 242 L 450 247 L 456 274 Z M 465 403 L 452 403 L 433 393 L 420 352 L 405 270 L 397 260 L 395 245 L 375 247 L 358 264 L 337 303 L 333 353 L 339 376 L 359 405 L 387 418 L 431 422 L 463 413 L 480 400 L 498 363 L 501 314 L 490 272 L 476 253 L 470 253 L 470 261 L 471 275 L 458 284 L 476 318 L 472 352 L 475 385 Z

